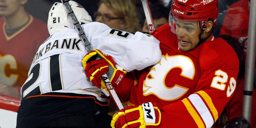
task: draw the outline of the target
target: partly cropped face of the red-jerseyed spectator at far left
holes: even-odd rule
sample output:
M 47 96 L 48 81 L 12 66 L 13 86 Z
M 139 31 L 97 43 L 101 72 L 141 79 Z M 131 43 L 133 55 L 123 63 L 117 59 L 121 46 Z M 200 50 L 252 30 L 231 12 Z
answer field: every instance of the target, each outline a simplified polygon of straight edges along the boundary
M 14 16 L 26 2 L 27 0 L 0 0 L 0 15 Z

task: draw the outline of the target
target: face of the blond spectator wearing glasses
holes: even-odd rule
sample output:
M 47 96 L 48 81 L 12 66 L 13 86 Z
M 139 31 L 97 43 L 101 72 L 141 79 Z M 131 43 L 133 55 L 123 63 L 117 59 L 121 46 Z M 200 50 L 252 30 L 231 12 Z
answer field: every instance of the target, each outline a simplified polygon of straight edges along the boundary
M 124 30 L 123 19 L 116 16 L 114 12 L 108 8 L 104 3 L 100 4 L 98 8 L 98 16 L 96 16 L 96 22 L 101 22 L 108 25 L 110 28 L 118 30 Z

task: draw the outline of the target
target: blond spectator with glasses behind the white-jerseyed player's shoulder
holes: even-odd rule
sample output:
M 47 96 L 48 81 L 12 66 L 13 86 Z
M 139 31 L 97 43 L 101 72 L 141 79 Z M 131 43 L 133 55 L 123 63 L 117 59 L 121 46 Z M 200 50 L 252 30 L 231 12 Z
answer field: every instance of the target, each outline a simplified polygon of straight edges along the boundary
M 100 0 L 94 13 L 96 22 L 126 32 L 140 31 L 138 13 L 131 0 Z

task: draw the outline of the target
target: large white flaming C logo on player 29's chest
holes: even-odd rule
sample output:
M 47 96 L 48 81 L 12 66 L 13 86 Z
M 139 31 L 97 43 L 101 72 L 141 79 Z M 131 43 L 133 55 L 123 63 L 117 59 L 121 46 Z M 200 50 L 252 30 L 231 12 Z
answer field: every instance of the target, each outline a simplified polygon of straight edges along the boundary
M 173 68 L 181 68 L 180 77 L 193 79 L 195 68 L 190 58 L 186 56 L 162 56 L 160 62 L 154 65 L 144 80 L 144 96 L 154 94 L 162 100 L 176 100 L 186 94 L 188 88 L 178 84 L 171 88 L 166 86 L 165 78 Z

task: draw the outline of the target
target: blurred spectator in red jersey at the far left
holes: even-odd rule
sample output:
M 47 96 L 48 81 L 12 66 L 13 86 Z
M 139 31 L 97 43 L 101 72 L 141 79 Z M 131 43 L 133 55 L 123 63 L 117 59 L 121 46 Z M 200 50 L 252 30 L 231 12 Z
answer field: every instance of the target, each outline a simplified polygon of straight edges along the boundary
M 0 93 L 20 96 L 47 25 L 24 9 L 27 0 L 0 0 Z

